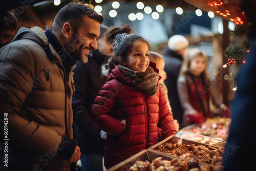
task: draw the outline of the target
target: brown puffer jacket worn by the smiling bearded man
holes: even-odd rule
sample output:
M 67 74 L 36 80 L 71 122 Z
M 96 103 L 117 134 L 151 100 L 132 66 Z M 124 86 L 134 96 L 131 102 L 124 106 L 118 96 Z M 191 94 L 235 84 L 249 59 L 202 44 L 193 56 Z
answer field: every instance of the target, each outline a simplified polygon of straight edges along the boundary
M 73 137 L 73 73 L 66 80 L 44 31 L 39 29 L 41 37 L 35 32 L 21 28 L 0 51 L 0 119 L 8 113 L 8 167 L 70 170 L 56 152 L 67 145 L 63 136 Z

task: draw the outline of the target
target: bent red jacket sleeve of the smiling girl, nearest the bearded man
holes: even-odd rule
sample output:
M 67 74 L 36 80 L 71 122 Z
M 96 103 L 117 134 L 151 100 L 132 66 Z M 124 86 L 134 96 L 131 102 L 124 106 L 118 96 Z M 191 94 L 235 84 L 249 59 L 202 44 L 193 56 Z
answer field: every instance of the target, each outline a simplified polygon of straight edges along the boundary
M 91 111 L 91 120 L 102 131 L 110 135 L 121 135 L 124 124 L 120 120 L 111 116 L 115 106 L 115 97 L 112 86 L 106 82 L 94 100 Z

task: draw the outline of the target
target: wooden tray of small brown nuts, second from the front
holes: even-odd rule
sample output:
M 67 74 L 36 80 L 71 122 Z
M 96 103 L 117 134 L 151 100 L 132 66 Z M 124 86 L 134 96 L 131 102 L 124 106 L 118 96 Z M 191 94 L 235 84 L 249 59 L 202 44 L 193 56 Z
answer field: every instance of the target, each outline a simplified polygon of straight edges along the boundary
M 196 141 L 189 141 L 180 137 L 168 137 L 150 147 L 160 153 L 172 155 L 179 159 L 197 159 L 199 163 L 213 166 L 215 169 L 222 169 L 223 154 L 225 147 L 204 144 Z

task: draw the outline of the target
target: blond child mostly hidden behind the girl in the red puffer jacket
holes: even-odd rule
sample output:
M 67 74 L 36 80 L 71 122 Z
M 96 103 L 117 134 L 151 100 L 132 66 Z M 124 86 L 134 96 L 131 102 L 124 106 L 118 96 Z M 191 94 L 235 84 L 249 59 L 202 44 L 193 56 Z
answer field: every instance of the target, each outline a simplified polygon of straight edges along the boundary
M 170 112 L 172 112 L 172 107 L 170 106 L 170 102 L 168 99 L 168 90 L 164 84 L 164 80 L 167 78 L 166 72 L 164 71 L 164 66 L 165 66 L 164 58 L 162 55 L 160 55 L 157 52 L 150 51 L 149 54 L 150 54 L 150 56 L 149 56 L 150 61 L 155 62 L 157 65 L 157 69 L 159 69 L 159 76 L 161 76 L 162 78 L 158 82 L 161 86 L 161 89 L 163 90 L 164 96 L 166 97 L 169 110 L 170 110 Z M 176 130 L 178 132 L 179 131 L 178 120 L 175 119 L 174 122 L 175 122 Z

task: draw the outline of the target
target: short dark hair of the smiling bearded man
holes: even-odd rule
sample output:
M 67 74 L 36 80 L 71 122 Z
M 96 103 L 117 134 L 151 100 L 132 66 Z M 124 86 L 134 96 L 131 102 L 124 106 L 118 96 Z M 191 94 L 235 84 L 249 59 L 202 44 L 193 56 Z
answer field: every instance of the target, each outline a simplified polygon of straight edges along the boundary
M 69 23 L 74 31 L 77 32 L 85 15 L 96 20 L 100 24 L 103 23 L 102 15 L 98 14 L 95 10 L 83 4 L 70 3 L 59 10 L 54 18 L 52 30 L 58 31 L 62 29 L 65 23 Z

